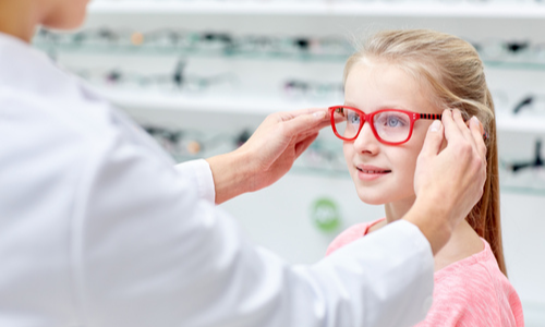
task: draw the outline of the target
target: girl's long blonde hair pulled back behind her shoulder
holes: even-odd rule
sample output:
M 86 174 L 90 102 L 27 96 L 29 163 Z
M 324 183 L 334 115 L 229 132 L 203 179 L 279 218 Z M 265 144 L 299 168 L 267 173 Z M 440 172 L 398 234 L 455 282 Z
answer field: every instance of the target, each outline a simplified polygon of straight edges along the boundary
M 488 132 L 486 182 L 483 197 L 467 220 L 492 247 L 507 276 L 499 217 L 499 180 L 494 102 L 486 85 L 479 53 L 459 37 L 428 29 L 384 31 L 366 40 L 344 68 L 344 82 L 354 63 L 364 59 L 396 64 L 426 85 L 438 109 L 460 109 L 465 118 L 476 116 Z

